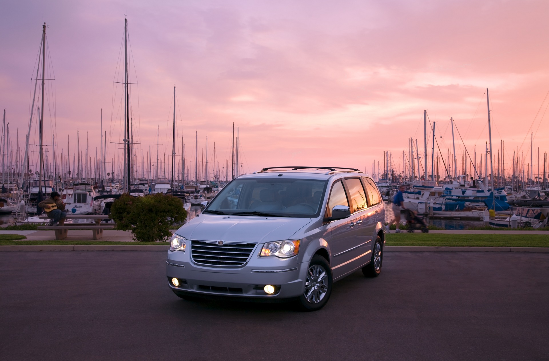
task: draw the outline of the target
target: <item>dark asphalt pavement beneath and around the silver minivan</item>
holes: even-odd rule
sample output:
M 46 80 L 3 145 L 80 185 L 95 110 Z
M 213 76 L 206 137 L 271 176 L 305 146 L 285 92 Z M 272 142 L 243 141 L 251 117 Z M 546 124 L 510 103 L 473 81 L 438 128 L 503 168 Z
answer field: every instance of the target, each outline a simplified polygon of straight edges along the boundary
M 173 295 L 165 252 L 0 252 L 3 360 L 545 360 L 549 254 L 386 252 L 318 312 Z

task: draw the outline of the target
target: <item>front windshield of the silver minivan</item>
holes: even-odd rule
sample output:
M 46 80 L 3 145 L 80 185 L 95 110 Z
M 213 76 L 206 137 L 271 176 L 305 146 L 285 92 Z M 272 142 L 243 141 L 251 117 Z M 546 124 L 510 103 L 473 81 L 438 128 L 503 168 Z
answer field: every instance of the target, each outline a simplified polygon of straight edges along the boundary
M 313 218 L 320 213 L 326 181 L 304 179 L 235 179 L 204 213 Z

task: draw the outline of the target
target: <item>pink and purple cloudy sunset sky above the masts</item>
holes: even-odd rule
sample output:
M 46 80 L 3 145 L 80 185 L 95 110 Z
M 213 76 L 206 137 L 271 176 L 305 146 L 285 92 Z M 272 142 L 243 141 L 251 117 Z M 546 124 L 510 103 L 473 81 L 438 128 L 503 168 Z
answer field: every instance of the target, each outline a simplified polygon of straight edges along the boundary
M 504 140 L 506 165 L 517 147 L 529 163 L 530 132 L 534 164 L 537 147 L 541 157 L 549 151 L 547 1 L 22 0 L 0 9 L 0 106 L 14 147 L 16 129 L 24 146 L 44 22 L 55 77 L 44 138 L 50 144 L 54 133 L 66 152 L 70 134 L 72 153 L 77 130 L 81 148 L 88 132 L 94 155 L 103 108 L 108 141 L 121 142 L 113 81 L 127 17 L 135 142 L 143 152 L 152 145 L 153 157 L 157 125 L 160 153 L 171 154 L 173 86 L 177 156 L 184 136 L 194 159 L 198 131 L 199 158 L 208 135 L 210 160 L 215 142 L 220 167 L 230 163 L 234 122 L 246 173 L 273 165 L 371 173 L 383 151 L 401 169 L 408 138 L 423 153 L 424 109 L 444 157 L 450 117 L 469 152 L 484 153 L 486 88 L 494 154 Z M 456 142 L 460 159 L 462 151 Z

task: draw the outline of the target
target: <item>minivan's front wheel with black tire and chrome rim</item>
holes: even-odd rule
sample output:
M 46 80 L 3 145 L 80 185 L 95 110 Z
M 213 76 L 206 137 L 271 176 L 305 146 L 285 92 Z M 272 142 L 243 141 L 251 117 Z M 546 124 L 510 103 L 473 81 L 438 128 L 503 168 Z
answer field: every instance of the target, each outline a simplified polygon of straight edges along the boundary
M 332 268 L 328 261 L 315 254 L 307 270 L 305 292 L 298 297 L 299 308 L 304 311 L 316 311 L 326 306 L 332 294 L 333 282 Z

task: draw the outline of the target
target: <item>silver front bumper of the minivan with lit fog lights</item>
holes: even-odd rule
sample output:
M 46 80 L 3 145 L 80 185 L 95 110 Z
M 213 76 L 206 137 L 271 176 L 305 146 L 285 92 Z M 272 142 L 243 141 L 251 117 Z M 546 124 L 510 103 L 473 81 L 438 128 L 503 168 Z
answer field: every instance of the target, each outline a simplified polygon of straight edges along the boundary
M 292 298 L 305 290 L 307 263 L 291 258 L 260 257 L 256 246 L 248 262 L 239 268 L 201 266 L 195 264 L 189 251 L 168 251 L 166 276 L 169 287 L 186 294 L 245 298 Z M 171 279 L 180 280 L 174 286 Z M 275 285 L 268 295 L 263 287 Z

